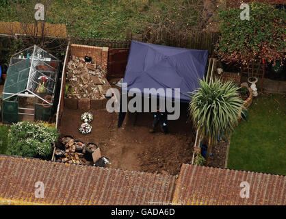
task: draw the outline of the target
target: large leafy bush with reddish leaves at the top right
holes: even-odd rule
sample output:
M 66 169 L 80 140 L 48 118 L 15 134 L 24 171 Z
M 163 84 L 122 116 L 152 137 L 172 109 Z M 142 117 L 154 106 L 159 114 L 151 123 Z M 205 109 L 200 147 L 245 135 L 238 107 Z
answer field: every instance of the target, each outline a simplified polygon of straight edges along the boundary
M 250 3 L 250 20 L 240 19 L 239 8 L 220 10 L 218 56 L 228 63 L 248 64 L 262 58 L 266 62 L 283 59 L 285 10 L 268 3 Z

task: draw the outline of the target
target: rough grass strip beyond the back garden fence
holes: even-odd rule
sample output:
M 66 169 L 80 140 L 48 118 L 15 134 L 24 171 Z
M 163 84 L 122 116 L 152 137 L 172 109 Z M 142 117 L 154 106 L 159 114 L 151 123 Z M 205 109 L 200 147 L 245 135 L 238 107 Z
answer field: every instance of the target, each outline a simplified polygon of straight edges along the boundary
M 0 21 L 22 21 L 17 12 L 14 0 L 0 4 Z M 42 3 L 48 2 L 47 0 Z M 134 33 L 142 34 L 150 24 L 156 31 L 157 27 L 172 27 L 180 34 L 192 29 L 196 24 L 197 12 L 188 5 L 196 5 L 197 0 L 57 0 L 51 1 L 47 7 L 47 23 L 64 23 L 69 36 L 81 38 L 114 38 L 124 40 L 126 27 Z M 200 0 L 200 5 L 203 2 Z M 36 1 L 17 1 L 18 8 L 27 11 L 25 19 L 29 23 L 34 19 Z M 39 2 L 40 3 L 40 2 Z M 197 7 L 197 8 L 202 8 Z M 160 16 L 160 17 L 158 17 Z M 154 18 L 158 18 L 154 20 Z M 27 22 L 27 21 L 26 21 Z M 159 23 L 162 22 L 162 25 Z M 177 34 L 178 34 L 177 33 Z

